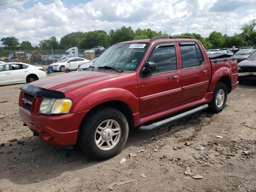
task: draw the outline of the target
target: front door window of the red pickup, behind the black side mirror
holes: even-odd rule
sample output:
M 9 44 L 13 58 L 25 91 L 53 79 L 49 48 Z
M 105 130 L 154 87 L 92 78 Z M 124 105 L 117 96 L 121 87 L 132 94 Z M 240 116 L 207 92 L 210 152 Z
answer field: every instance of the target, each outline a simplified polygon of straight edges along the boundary
M 158 47 L 154 51 L 150 61 L 156 63 L 156 71 L 153 73 L 176 70 L 177 61 L 174 45 Z

